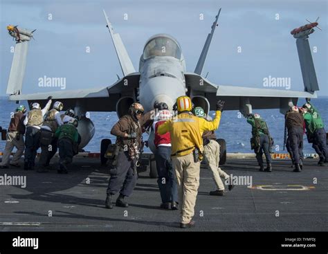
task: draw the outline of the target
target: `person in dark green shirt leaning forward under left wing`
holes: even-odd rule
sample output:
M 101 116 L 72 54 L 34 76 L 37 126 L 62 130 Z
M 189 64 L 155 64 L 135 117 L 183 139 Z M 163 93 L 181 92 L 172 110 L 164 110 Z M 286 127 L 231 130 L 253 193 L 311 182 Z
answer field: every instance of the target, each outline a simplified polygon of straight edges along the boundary
M 74 147 L 78 143 L 78 120 L 70 120 L 64 125 L 60 125 L 55 132 L 55 138 L 58 140 L 58 148 L 60 150 L 60 161 L 58 174 L 67 174 L 67 165 L 72 162 L 74 154 Z

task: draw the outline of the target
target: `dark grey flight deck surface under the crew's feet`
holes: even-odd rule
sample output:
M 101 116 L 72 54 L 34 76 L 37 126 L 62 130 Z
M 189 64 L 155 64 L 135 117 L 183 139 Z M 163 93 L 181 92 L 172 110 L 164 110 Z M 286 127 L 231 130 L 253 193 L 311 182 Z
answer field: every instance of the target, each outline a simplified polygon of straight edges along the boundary
M 55 158 L 53 167 L 56 166 Z M 215 190 L 210 170 L 201 168 L 194 220 L 187 230 L 324 231 L 328 228 L 328 169 L 316 159 L 292 172 L 289 160 L 273 161 L 273 172 L 259 172 L 255 159 L 229 159 L 223 169 L 233 176 L 252 176 L 252 188 L 237 185 L 225 197 Z M 10 168 L 0 176 L 26 176 L 26 188 L 0 185 L 2 231 L 175 231 L 179 210 L 162 210 L 156 179 L 141 173 L 129 208 L 104 208 L 106 167 L 98 158 L 74 158 L 69 174 Z M 245 178 L 246 179 L 246 178 Z M 249 178 L 248 178 L 249 180 Z M 52 216 L 49 216 L 52 215 Z M 184 229 L 185 230 L 185 229 Z

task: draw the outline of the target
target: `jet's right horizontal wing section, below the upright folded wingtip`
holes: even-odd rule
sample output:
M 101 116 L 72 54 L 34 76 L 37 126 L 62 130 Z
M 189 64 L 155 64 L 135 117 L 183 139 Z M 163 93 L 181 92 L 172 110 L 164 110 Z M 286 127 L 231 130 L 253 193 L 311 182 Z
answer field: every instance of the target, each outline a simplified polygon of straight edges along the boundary
M 225 110 L 243 111 L 245 105 L 252 105 L 253 109 L 280 109 L 284 113 L 290 102 L 297 104 L 298 98 L 317 98 L 316 92 L 212 84 L 196 73 L 185 73 L 185 85 L 192 96 L 206 97 L 210 102 L 210 110 L 215 110 L 217 100 L 224 100 Z

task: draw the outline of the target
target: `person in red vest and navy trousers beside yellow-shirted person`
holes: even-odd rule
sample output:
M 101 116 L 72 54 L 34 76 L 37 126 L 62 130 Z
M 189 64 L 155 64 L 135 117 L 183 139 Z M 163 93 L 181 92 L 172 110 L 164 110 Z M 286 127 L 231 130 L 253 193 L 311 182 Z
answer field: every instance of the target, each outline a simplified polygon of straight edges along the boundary
M 158 109 L 158 114 L 156 114 L 154 119 L 153 129 L 155 133 L 154 145 L 156 146 L 157 183 L 162 199 L 161 208 L 177 210 L 178 190 L 176 188 L 176 179 L 172 166 L 170 133 L 167 132 L 160 135 L 157 132 L 159 126 L 163 125 L 166 120 L 172 118 L 172 114 L 168 110 L 165 102 L 154 105 L 154 108 Z

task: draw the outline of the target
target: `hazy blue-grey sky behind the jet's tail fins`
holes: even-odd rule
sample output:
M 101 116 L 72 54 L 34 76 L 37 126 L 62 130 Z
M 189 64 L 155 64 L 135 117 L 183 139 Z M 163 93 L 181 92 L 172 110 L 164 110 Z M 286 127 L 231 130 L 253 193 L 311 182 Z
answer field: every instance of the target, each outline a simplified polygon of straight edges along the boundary
M 293 28 L 320 16 L 322 31 L 310 35 L 320 91 L 327 87 L 327 0 L 275 1 L 45 1 L 0 0 L 0 95 L 6 93 L 12 62 L 8 24 L 37 29 L 30 42 L 23 93 L 60 88 L 39 87 L 38 78 L 66 78 L 66 89 L 103 87 L 116 82 L 122 71 L 102 8 L 120 33 L 136 70 L 143 46 L 156 33 L 168 33 L 181 44 L 187 71 L 194 71 L 221 7 L 219 27 L 203 69 L 215 84 L 263 88 L 263 79 L 291 78 L 291 90 L 303 90 Z M 127 14 L 127 20 L 124 18 Z M 203 14 L 203 20 L 200 15 Z M 49 20 L 49 15 L 52 19 Z M 279 15 L 279 19 L 276 19 Z M 86 53 L 86 47 L 90 53 Z M 242 53 L 237 47 L 242 47 Z

